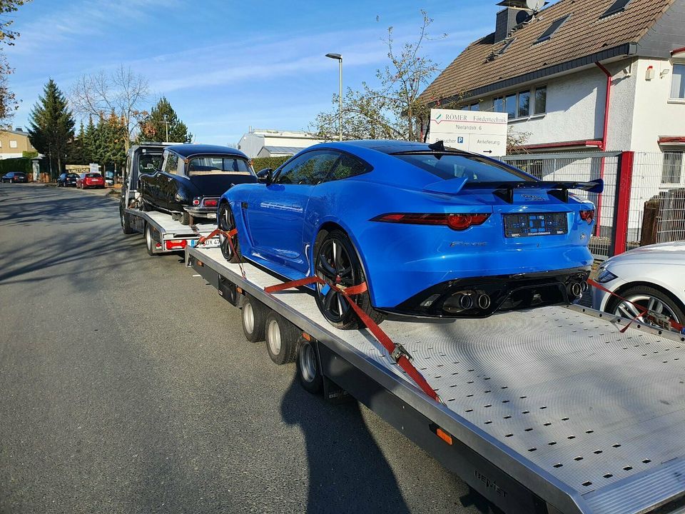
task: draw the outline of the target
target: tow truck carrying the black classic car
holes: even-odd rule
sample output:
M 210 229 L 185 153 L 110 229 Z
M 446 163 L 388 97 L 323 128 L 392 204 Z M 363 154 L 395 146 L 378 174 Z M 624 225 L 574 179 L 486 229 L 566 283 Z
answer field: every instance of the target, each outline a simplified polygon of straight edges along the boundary
M 200 238 L 205 238 L 214 230 L 215 224 L 195 223 L 183 225 L 170 214 L 158 211 L 143 211 L 143 204 L 138 193 L 138 176 L 141 173 L 153 172 L 161 162 L 166 146 L 173 143 L 141 143 L 131 146 L 126 156 L 125 176 L 119 200 L 119 219 L 121 230 L 125 234 L 134 232 L 145 236 L 148 255 L 183 251 L 186 247 L 195 246 Z M 219 246 L 218 238 L 203 241 L 205 248 Z

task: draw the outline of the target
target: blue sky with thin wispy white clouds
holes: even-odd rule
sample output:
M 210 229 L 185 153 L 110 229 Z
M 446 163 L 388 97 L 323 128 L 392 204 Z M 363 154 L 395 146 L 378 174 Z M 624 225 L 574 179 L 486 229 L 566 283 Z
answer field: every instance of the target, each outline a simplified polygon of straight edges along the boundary
M 33 0 L 16 13 L 6 50 L 21 99 L 15 126 L 49 77 L 65 93 L 78 76 L 123 64 L 147 77 L 147 109 L 166 96 L 201 143 L 236 143 L 248 126 L 303 130 L 345 88 L 375 83 L 388 26 L 413 40 L 420 9 L 435 19 L 425 54 L 442 68 L 494 30 L 494 0 Z M 378 18 L 378 19 L 377 19 Z

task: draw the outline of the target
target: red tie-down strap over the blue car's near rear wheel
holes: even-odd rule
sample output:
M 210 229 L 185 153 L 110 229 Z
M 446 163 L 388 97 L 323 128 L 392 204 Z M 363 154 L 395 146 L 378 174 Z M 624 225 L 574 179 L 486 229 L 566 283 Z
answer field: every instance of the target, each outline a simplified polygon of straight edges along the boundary
M 330 284 L 323 280 L 323 278 L 319 278 L 318 276 L 313 276 L 313 277 L 307 277 L 307 278 L 300 278 L 300 280 L 296 281 L 290 281 L 290 282 L 285 282 L 285 283 L 280 283 L 276 284 L 275 286 L 269 286 L 264 288 L 264 291 L 266 293 L 278 293 L 278 291 L 284 291 L 285 289 L 290 289 L 290 288 L 298 288 L 301 286 L 309 286 L 310 284 L 313 283 L 318 283 L 321 284 L 322 286 L 328 285 L 331 288 L 335 288 L 340 293 L 342 293 L 342 297 L 347 300 L 347 303 L 350 304 L 350 307 L 352 307 L 352 310 L 357 313 L 357 316 L 359 316 L 360 320 L 366 328 L 369 329 L 369 331 L 373 334 L 373 336 L 376 338 L 376 340 L 382 344 L 383 348 L 387 351 L 387 353 L 390 354 L 390 358 L 392 358 L 393 361 L 397 363 L 400 368 L 402 368 L 407 375 L 412 378 L 412 381 L 414 381 L 420 388 L 421 390 L 426 393 L 430 398 L 433 400 L 437 401 L 438 403 L 443 403 L 442 399 L 440 399 L 440 396 L 435 392 L 435 390 L 430 386 L 429 383 L 427 383 L 426 379 L 423 378 L 423 375 L 420 373 L 420 371 L 417 370 L 417 368 L 414 367 L 412 364 L 412 356 L 405 350 L 405 348 L 399 344 L 399 343 L 393 343 L 392 340 L 387 336 L 385 332 L 382 331 L 382 329 L 377 325 L 375 321 L 373 321 L 370 316 L 367 315 L 360 306 L 357 306 L 357 304 L 350 298 L 351 296 L 355 296 L 357 294 L 365 293 L 367 291 L 367 285 L 366 283 L 360 283 L 358 286 L 350 286 L 350 287 L 344 287 L 340 286 L 339 284 Z

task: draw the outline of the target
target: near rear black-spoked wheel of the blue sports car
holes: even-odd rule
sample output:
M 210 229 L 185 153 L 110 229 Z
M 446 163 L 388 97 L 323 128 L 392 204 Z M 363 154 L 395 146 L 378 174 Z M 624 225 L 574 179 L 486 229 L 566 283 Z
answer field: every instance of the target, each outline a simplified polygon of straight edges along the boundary
M 347 234 L 340 230 L 321 231 L 314 245 L 315 273 L 328 283 L 357 286 L 364 282 L 364 270 Z M 382 313 L 371 306 L 369 292 L 350 297 L 364 313 L 376 323 L 383 320 Z M 316 304 L 335 328 L 355 330 L 364 326 L 342 293 L 327 285 L 317 284 Z

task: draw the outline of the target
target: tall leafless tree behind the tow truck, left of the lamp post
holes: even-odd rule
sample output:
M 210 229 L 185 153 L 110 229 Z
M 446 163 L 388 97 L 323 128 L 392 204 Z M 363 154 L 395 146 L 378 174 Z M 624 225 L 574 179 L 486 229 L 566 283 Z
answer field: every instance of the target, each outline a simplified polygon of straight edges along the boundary
M 73 109 L 83 116 L 116 114 L 128 134 L 124 141 L 128 151 L 141 120 L 148 114 L 141 109 L 148 94 L 147 79 L 122 65 L 111 73 L 98 71 L 81 76 L 71 88 L 70 99 Z

